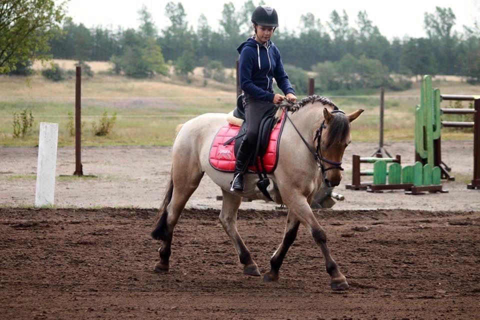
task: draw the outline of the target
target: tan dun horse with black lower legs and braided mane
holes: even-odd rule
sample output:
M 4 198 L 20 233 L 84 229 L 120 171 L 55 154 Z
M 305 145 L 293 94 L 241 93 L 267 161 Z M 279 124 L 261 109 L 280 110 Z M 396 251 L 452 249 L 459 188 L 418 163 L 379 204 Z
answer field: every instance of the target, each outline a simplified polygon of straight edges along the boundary
M 317 95 L 305 97 L 293 106 L 285 106 L 285 109 L 287 118 L 279 140 L 277 166 L 268 178 L 273 181 L 270 190 L 272 198 L 276 203 L 286 205 L 288 213 L 283 238 L 271 256 L 270 270 L 264 273 L 263 280 L 278 280 L 283 258 L 301 223 L 321 249 L 331 288 L 348 289 L 346 278 L 330 254 L 326 233 L 316 220 L 310 202 L 321 188 L 340 183 L 341 159 L 351 141 L 350 122 L 363 109 L 345 114 L 331 100 Z M 160 259 L 154 265 L 156 272 L 168 272 L 173 229 L 188 198 L 206 173 L 221 189 L 223 202 L 219 220 L 243 265 L 243 273 L 260 276 L 258 266 L 236 228 L 241 198 L 265 199 L 256 188 L 256 176 L 245 174 L 243 192 L 230 191 L 232 174 L 218 171 L 209 163 L 210 145 L 218 129 L 225 124 L 226 117 L 225 113 L 201 114 L 185 122 L 177 132 L 172 146 L 170 178 L 151 231 L 153 239 L 163 241 L 158 249 Z

